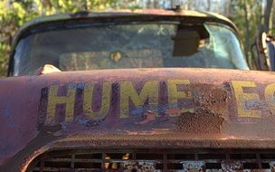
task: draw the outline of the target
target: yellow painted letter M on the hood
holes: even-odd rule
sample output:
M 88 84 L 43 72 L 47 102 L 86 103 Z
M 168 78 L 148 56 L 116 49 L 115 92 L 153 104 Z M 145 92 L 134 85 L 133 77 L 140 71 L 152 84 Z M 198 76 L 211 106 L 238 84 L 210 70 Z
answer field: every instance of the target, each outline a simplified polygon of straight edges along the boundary
M 123 81 L 120 83 L 120 118 L 128 118 L 128 101 L 132 100 L 136 108 L 141 108 L 148 99 L 148 105 L 158 104 L 158 82 L 147 81 L 137 94 L 131 81 Z

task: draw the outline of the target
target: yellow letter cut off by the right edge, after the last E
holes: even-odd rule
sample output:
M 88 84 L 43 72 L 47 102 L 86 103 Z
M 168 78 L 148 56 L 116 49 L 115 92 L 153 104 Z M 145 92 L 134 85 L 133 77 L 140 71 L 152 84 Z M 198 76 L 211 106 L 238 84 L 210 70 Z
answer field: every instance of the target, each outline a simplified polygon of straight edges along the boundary
M 264 91 L 265 100 L 268 103 L 270 111 L 273 115 L 275 115 L 275 83 L 268 85 Z

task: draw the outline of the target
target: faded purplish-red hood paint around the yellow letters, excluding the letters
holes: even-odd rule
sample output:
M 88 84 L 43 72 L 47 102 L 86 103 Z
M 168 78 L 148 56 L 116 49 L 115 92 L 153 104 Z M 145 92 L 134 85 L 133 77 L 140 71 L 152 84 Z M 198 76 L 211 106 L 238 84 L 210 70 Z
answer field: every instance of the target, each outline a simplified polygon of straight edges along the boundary
M 113 100 L 105 119 L 85 120 L 85 114 L 77 113 L 82 107 L 79 90 L 73 108 L 76 113 L 70 121 L 64 121 L 63 112 L 57 111 L 55 115 L 60 120 L 44 122 L 48 94 L 43 94 L 43 89 L 52 85 L 66 88 L 70 84 L 109 81 L 115 91 L 119 90 L 121 81 L 131 81 L 138 92 L 145 82 L 157 81 L 157 107 L 163 108 L 163 105 L 169 106 L 168 80 L 190 81 L 187 90 L 192 99 L 181 100 L 184 109 L 174 107 L 163 110 L 163 114 L 133 113 L 123 119 L 119 116 L 120 100 Z M 260 110 L 261 118 L 239 116 L 240 103 L 236 101 L 232 81 L 255 84 L 242 90 L 258 95 L 260 101 L 246 100 L 244 108 Z M 273 83 L 272 72 L 215 69 L 52 72 L 3 79 L 0 80 L 0 170 L 10 169 L 7 167 L 11 165 L 13 169 L 24 169 L 32 158 L 50 148 L 274 148 L 274 111 L 266 100 L 269 98 L 266 88 Z M 178 88 L 182 89 L 186 87 Z M 111 95 L 112 99 L 119 97 L 119 94 Z M 95 96 L 98 100 L 102 97 Z M 192 110 L 186 111 L 186 108 Z M 136 110 L 131 103 L 129 110 Z

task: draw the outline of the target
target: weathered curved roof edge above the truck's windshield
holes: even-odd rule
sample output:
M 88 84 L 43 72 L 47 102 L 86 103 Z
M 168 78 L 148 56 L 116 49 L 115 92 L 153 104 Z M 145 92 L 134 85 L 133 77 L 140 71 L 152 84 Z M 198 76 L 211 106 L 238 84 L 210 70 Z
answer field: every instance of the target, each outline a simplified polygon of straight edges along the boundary
M 49 24 L 54 22 L 62 21 L 71 21 L 78 19 L 95 19 L 95 18 L 119 18 L 119 17 L 128 17 L 130 20 L 131 17 L 138 16 L 160 16 L 160 17 L 180 17 L 180 18 L 193 18 L 201 19 L 208 22 L 222 23 L 227 24 L 232 27 L 236 33 L 239 34 L 237 27 L 232 23 L 231 20 L 224 17 L 221 14 L 215 14 L 211 12 L 198 12 L 198 11 L 186 11 L 181 9 L 135 9 L 135 10 L 112 10 L 112 11 L 81 11 L 76 13 L 64 13 L 64 14 L 52 14 L 41 16 L 33 19 L 27 24 L 24 24 L 17 33 L 14 35 L 13 45 L 16 44 L 19 37 L 30 28 L 33 28 L 41 24 Z

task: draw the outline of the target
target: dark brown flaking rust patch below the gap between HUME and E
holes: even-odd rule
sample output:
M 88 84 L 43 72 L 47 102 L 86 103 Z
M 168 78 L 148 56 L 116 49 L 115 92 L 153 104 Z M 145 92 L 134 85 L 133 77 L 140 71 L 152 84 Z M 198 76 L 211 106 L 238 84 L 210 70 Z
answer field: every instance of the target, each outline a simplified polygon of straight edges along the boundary
M 182 113 L 176 125 L 186 133 L 221 133 L 223 121 L 221 114 L 200 107 L 194 113 Z

